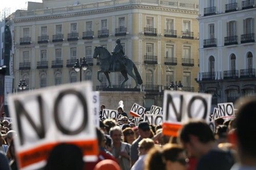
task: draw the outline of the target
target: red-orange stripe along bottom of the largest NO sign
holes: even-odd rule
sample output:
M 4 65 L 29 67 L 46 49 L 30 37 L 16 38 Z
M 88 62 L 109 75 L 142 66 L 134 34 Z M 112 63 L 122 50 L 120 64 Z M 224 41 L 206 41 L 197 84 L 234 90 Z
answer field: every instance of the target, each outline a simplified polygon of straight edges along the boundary
M 84 141 L 70 141 L 70 142 L 56 142 L 46 143 L 39 147 L 19 152 L 18 162 L 19 167 L 25 166 L 47 160 L 51 150 L 59 143 L 70 143 L 77 145 L 83 152 L 83 155 L 98 155 L 98 140 L 84 140 Z

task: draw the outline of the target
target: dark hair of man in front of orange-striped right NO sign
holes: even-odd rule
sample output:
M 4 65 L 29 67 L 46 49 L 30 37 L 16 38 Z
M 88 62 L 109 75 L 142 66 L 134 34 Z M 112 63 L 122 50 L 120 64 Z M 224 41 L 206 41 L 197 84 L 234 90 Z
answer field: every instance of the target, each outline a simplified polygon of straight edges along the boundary
M 180 140 L 182 142 L 189 142 L 189 135 L 197 136 L 199 141 L 202 143 L 215 140 L 210 127 L 205 122 L 201 121 L 192 120 L 182 127 L 180 131 Z

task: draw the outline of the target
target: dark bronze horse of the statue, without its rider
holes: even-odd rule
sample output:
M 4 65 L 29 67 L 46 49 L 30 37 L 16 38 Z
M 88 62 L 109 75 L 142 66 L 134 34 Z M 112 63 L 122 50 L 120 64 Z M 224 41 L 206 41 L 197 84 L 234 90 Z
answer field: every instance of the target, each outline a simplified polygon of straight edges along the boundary
M 102 80 L 99 78 L 99 74 L 100 72 L 104 72 L 106 79 L 108 79 L 108 82 L 109 82 L 108 87 L 111 87 L 109 73 L 119 72 L 119 71 L 124 77 L 124 81 L 120 84 L 120 87 L 122 87 L 123 84 L 128 80 L 127 74 L 135 80 L 136 86 L 134 88 L 137 88 L 138 84 L 139 85 L 142 84 L 142 79 L 140 77 L 138 69 L 136 65 L 133 63 L 133 61 L 130 60 L 129 58 L 124 57 L 124 65 L 120 64 L 117 60 L 115 60 L 115 57 L 113 57 L 109 53 L 109 51 L 106 50 L 106 48 L 104 48 L 103 46 L 95 46 L 93 58 L 98 59 L 100 62 L 100 70 L 97 71 L 97 78 L 99 82 L 102 82 Z M 114 62 L 116 63 L 114 64 Z M 115 65 L 114 69 L 113 69 L 113 65 Z M 134 69 L 135 75 L 133 74 L 133 69 Z

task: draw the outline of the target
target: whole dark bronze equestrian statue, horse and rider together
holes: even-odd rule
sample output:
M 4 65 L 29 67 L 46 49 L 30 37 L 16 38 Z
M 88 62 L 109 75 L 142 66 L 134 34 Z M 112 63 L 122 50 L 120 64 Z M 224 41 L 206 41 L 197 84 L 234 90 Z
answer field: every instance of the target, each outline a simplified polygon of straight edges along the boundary
M 124 77 L 124 81 L 120 84 L 120 88 L 128 80 L 127 74 L 135 80 L 136 86 L 134 88 L 137 88 L 138 84 L 142 84 L 138 69 L 131 59 L 124 56 L 123 46 L 121 45 L 120 39 L 117 39 L 116 43 L 117 45 L 111 54 L 103 46 L 95 46 L 93 58 L 98 59 L 100 62 L 100 70 L 97 71 L 97 78 L 99 82 L 102 82 L 99 78 L 99 74 L 104 72 L 106 79 L 108 79 L 109 82 L 108 87 L 111 87 L 109 73 L 120 71 Z

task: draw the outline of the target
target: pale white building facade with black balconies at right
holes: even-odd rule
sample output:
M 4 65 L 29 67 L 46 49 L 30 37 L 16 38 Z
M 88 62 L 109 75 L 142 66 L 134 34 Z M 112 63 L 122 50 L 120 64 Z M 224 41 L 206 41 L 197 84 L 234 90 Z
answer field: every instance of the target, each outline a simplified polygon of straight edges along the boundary
M 200 1 L 198 83 L 212 104 L 256 92 L 253 0 Z

